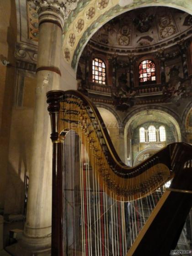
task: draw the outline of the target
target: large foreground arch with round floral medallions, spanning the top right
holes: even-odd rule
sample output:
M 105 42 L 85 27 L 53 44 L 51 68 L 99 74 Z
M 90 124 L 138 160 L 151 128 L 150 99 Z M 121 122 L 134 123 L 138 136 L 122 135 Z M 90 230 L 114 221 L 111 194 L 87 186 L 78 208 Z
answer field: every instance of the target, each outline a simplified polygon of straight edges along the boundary
M 98 0 L 80 0 L 74 11 L 71 11 L 65 21 L 63 53 L 68 55 L 68 63 L 73 69 L 77 69 L 80 54 L 92 35 L 106 22 L 126 11 L 147 6 L 167 6 L 186 11 L 192 14 L 192 2 L 189 0 L 106 0 L 105 5 Z M 78 21 L 82 20 L 82 26 L 78 27 Z M 75 34 L 73 47 L 69 46 L 68 39 L 71 33 Z

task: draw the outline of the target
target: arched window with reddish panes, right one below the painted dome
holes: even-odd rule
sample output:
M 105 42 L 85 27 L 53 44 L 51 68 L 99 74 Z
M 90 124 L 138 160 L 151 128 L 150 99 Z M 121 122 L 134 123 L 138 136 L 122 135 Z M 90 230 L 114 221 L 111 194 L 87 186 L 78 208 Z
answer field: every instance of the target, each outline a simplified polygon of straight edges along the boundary
M 156 81 L 155 63 L 146 59 L 139 64 L 139 84 L 151 84 Z

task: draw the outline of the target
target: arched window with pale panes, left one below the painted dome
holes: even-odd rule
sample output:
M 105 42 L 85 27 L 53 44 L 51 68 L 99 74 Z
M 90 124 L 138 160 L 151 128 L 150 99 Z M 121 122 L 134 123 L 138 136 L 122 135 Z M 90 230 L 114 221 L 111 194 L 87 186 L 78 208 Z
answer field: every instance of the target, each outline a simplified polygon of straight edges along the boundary
M 106 67 L 101 59 L 93 59 L 92 62 L 92 81 L 99 84 L 106 84 Z

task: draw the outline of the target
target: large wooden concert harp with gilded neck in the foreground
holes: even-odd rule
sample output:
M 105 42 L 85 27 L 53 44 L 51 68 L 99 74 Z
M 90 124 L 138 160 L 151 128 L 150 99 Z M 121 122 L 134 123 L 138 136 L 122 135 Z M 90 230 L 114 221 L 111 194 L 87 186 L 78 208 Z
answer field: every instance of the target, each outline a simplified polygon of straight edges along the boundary
M 50 91 L 47 102 L 53 141 L 52 255 L 169 255 L 192 205 L 192 146 L 170 144 L 128 167 L 87 97 Z M 161 196 L 161 186 L 171 179 Z

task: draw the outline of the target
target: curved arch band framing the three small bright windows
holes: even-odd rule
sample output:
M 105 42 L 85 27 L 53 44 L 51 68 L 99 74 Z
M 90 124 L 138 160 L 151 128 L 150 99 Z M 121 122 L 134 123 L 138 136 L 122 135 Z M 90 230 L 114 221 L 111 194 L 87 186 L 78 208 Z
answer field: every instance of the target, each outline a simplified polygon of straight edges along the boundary
M 165 108 L 160 108 L 157 106 L 153 107 L 145 107 L 144 108 L 138 108 L 131 113 L 127 117 L 125 117 L 124 122 L 125 123 L 125 128 L 124 128 L 124 159 L 125 163 L 127 163 L 127 155 L 128 155 L 128 144 L 127 144 L 127 134 L 130 125 L 135 121 L 139 120 L 139 116 L 144 116 L 146 115 L 147 112 L 151 112 L 152 114 L 158 114 L 158 116 L 163 120 L 167 119 L 169 122 L 174 125 L 175 131 L 176 131 L 176 142 L 181 142 L 181 129 L 180 129 L 180 123 L 181 121 L 179 120 L 179 117 L 175 115 L 171 115 L 171 112 L 166 111 Z M 178 118 L 175 118 L 178 117 Z M 178 121 L 179 120 L 179 121 Z

